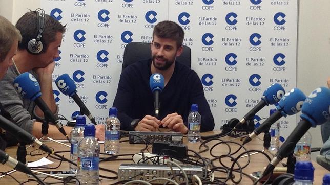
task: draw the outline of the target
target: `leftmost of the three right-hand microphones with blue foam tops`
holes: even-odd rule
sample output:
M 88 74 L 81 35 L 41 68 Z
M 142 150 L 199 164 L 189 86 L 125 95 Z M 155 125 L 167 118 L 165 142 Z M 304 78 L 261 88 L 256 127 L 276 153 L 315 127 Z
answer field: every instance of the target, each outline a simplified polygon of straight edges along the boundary
M 244 115 L 243 119 L 235 125 L 234 129 L 241 124 L 244 124 L 247 120 L 251 120 L 264 106 L 273 105 L 279 102 L 284 94 L 284 88 L 278 83 L 273 83 L 271 86 L 267 87 L 262 94 L 261 101 Z

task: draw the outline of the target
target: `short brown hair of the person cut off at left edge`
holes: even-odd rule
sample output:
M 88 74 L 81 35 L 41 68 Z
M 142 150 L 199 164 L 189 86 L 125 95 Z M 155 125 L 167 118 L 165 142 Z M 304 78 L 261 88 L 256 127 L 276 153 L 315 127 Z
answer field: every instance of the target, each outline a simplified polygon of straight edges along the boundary
M 4 61 L 10 51 L 14 41 L 20 42 L 20 36 L 17 28 L 5 17 L 0 16 L 0 62 Z

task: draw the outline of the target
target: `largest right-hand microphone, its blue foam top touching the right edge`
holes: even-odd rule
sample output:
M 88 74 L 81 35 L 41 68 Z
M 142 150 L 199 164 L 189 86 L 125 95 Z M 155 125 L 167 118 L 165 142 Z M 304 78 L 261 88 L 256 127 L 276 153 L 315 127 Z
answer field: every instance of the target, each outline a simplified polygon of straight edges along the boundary
M 271 173 L 275 166 L 294 150 L 297 142 L 308 129 L 330 120 L 330 90 L 326 87 L 313 90 L 302 104 L 301 112 L 298 125 L 278 149 L 262 176 Z

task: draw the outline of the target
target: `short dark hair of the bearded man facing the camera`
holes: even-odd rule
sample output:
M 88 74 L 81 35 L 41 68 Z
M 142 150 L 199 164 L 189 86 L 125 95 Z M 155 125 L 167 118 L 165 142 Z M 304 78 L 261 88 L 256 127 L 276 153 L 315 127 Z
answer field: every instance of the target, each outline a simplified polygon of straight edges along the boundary
M 170 38 L 176 41 L 177 48 L 181 47 L 184 39 L 183 29 L 173 21 L 164 20 L 159 22 L 152 33 L 152 36 L 159 38 Z

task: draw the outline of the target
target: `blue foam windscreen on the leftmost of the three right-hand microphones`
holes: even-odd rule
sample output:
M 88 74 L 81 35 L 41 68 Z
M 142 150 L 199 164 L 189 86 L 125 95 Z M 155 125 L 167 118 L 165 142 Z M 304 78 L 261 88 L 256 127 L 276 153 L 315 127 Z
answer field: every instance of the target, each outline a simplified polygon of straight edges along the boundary
M 279 102 L 280 99 L 284 96 L 284 94 L 285 90 L 282 85 L 278 83 L 273 83 L 263 92 L 262 99 L 267 103 L 267 105 L 273 105 Z

